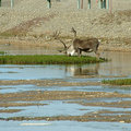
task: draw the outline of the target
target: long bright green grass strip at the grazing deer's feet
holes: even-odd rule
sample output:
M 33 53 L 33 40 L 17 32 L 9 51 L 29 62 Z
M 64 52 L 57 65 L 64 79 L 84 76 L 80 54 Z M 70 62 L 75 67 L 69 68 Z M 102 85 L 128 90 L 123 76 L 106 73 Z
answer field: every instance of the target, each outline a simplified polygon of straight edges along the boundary
M 74 63 L 97 63 L 106 59 L 95 57 L 67 57 L 58 55 L 35 55 L 35 56 L 0 56 L 0 64 L 74 64 Z

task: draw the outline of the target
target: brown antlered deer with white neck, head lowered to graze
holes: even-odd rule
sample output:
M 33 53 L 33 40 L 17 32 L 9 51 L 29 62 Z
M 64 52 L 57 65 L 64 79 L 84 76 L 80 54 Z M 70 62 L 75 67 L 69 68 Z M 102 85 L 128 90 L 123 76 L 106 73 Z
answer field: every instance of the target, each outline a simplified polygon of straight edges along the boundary
M 74 52 L 78 52 L 78 56 L 81 57 L 82 56 L 82 51 L 84 52 L 95 52 L 96 57 L 99 59 L 99 53 L 98 53 L 98 46 L 100 40 L 98 38 L 78 38 L 76 37 L 76 31 L 72 27 L 71 32 L 74 34 L 74 38 L 72 40 L 72 45 L 70 45 L 69 47 L 66 45 L 66 43 L 63 40 L 61 40 L 58 36 L 60 34 L 59 33 L 55 33 L 53 37 L 56 39 L 58 39 L 60 43 L 63 44 L 64 49 L 63 50 L 59 50 L 59 51 L 64 51 L 64 53 L 67 56 L 73 56 Z

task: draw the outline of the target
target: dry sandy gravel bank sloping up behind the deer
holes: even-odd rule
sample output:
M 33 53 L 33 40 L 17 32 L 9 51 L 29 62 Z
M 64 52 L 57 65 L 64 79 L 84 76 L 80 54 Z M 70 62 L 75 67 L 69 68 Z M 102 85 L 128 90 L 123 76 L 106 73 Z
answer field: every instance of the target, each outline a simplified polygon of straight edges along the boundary
M 69 3 L 73 8 L 68 8 Z M 70 45 L 73 26 L 78 37 L 100 39 L 102 51 L 131 51 L 131 10 L 78 10 L 71 0 L 53 2 L 51 9 L 46 5 L 47 1 L 23 0 L 13 9 L 0 8 L 0 50 L 43 48 L 58 53 L 57 50 L 63 47 L 52 39 L 53 32 L 60 31 L 60 37 Z

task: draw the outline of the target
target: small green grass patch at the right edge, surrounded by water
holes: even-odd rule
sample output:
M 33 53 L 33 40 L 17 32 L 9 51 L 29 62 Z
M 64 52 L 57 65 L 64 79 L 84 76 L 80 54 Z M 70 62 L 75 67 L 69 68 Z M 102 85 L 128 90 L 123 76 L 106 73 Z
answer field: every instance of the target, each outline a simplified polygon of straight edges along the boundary
M 103 80 L 102 83 L 110 85 L 131 85 L 131 79 Z

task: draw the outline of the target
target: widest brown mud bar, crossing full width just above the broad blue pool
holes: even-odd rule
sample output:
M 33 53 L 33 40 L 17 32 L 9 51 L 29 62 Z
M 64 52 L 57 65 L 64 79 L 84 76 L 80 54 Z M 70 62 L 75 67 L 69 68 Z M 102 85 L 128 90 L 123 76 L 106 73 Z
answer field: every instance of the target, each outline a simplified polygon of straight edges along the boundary
M 34 102 L 34 100 L 55 100 L 55 99 L 91 99 L 91 98 L 131 98 L 130 94 L 105 93 L 105 92 L 78 92 L 78 91 L 28 91 L 22 93 L 1 94 L 1 102 Z M 91 104 L 92 105 L 92 104 Z

